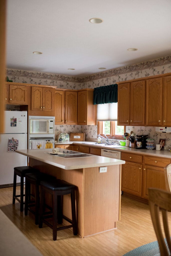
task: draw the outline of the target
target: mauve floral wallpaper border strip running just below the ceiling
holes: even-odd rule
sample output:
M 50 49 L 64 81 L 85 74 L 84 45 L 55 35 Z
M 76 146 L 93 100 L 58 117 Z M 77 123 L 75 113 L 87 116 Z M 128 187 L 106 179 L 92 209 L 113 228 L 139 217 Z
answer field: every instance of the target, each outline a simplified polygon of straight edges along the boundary
M 51 85 L 54 85 L 53 81 L 66 81 L 66 82 L 74 82 L 74 83 L 85 83 L 92 80 L 102 79 L 106 77 L 116 76 L 120 74 L 125 74 L 128 72 L 143 70 L 143 69 L 149 69 L 154 68 L 157 66 L 162 66 L 171 63 L 171 56 L 161 57 L 154 60 L 148 60 L 145 62 L 124 66 L 121 68 L 115 68 L 108 71 L 103 71 L 100 73 L 92 74 L 90 76 L 86 76 L 83 78 L 79 77 L 70 77 L 70 76 L 63 76 L 58 74 L 47 74 L 42 72 L 32 72 L 32 71 L 24 71 L 24 70 L 13 70 L 13 69 L 6 69 L 7 76 L 14 77 L 28 77 L 30 78 L 37 78 L 37 79 L 50 79 L 52 80 Z

